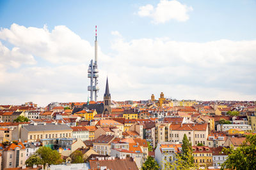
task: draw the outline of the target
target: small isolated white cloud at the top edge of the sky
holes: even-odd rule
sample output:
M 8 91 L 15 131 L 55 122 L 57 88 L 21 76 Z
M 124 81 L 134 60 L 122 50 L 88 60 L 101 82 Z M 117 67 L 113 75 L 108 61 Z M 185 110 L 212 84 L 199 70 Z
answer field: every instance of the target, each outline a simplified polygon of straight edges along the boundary
M 140 6 L 138 15 L 140 17 L 150 17 L 155 24 L 165 23 L 169 20 L 185 22 L 189 19 L 188 12 L 192 11 L 191 6 L 181 4 L 179 1 L 161 0 L 156 8 L 152 4 Z

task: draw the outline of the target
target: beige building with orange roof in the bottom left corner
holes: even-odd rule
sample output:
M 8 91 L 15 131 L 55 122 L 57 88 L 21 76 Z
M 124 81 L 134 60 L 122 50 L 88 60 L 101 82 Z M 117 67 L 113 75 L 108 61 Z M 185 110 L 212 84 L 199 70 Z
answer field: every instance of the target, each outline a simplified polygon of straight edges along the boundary
M 19 142 L 12 143 L 3 151 L 3 168 L 21 167 L 25 165 L 26 148 Z

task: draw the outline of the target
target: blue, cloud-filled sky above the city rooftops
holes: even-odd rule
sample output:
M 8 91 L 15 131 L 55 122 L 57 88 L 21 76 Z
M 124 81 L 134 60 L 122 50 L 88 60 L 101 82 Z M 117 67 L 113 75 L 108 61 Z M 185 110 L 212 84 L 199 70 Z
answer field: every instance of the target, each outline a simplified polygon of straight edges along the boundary
M 256 1 L 0 1 L 0 104 L 256 99 Z

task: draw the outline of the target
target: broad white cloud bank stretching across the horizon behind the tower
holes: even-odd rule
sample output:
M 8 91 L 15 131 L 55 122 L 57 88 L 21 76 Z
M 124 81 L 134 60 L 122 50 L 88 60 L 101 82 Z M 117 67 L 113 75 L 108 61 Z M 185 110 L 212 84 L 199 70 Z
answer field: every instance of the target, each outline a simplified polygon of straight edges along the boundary
M 160 92 L 178 99 L 256 98 L 255 40 L 126 41 L 118 31 L 112 34 L 111 56 L 99 50 L 99 100 L 107 75 L 114 100 L 149 99 Z M 65 26 L 48 31 L 16 24 L 2 29 L 0 39 L 13 45 L 10 50 L 0 43 L 0 104 L 87 100 L 88 62 L 94 56 L 88 41 Z

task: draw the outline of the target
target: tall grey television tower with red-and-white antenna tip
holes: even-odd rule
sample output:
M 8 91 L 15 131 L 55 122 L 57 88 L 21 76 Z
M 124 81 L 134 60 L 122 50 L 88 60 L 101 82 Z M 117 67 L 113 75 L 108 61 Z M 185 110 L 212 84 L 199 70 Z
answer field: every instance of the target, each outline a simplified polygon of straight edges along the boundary
M 99 92 L 100 88 L 98 86 L 98 77 L 99 77 L 99 70 L 97 66 L 97 58 L 98 58 L 98 41 L 97 41 L 97 25 L 95 26 L 95 59 L 94 63 L 91 60 L 88 69 L 88 78 L 90 78 L 90 85 L 88 86 L 88 91 L 90 91 L 90 101 L 93 101 L 93 92 L 94 92 L 94 101 L 97 102 L 97 92 Z M 94 79 L 94 81 L 93 81 Z M 94 85 L 93 85 L 94 83 Z

